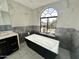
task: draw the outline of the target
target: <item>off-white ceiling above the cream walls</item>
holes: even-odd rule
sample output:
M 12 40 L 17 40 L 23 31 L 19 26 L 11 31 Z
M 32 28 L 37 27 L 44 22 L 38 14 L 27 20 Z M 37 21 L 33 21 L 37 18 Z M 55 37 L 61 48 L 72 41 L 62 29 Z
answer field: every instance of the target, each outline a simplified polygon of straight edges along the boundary
M 56 2 L 58 0 L 15 0 L 29 8 L 36 9 L 41 6 Z

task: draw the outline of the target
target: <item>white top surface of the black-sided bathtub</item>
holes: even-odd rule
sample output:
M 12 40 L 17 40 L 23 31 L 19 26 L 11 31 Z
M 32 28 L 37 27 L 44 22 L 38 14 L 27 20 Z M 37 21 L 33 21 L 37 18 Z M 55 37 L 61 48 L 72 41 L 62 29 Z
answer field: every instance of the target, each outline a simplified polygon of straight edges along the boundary
M 25 38 L 58 54 L 58 50 L 59 50 L 59 41 L 58 40 L 51 39 L 51 38 L 41 36 L 41 35 L 37 35 L 37 34 L 32 34 Z

